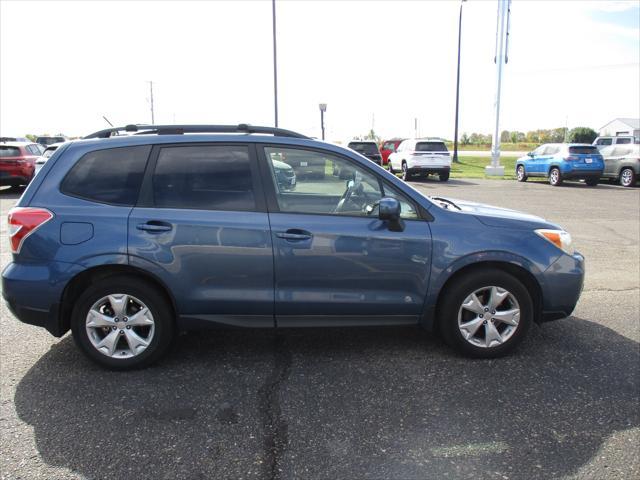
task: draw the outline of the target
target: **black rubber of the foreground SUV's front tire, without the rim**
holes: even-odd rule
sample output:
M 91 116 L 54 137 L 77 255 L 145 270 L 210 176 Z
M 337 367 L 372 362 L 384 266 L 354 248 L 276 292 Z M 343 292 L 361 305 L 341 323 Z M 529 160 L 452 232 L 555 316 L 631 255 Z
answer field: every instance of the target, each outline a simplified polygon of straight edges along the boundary
M 463 336 L 458 324 L 458 315 L 462 311 L 462 304 L 468 296 L 479 289 L 492 286 L 507 290 L 516 299 L 520 308 L 520 319 L 504 343 L 489 347 L 477 346 Z M 454 283 L 448 285 L 445 291 L 442 292 L 440 299 L 438 305 L 438 326 L 442 337 L 459 353 L 469 357 L 496 358 L 506 355 L 516 348 L 525 338 L 533 322 L 533 301 L 527 288 L 513 275 L 499 269 L 477 270 L 455 279 Z M 509 299 L 508 302 L 510 301 Z M 503 304 L 500 304 L 500 306 L 508 308 L 507 300 L 505 300 Z M 467 311 L 464 311 L 464 314 L 474 315 Z M 476 318 L 479 318 L 479 315 Z M 502 329 L 503 333 L 509 328 L 505 324 L 500 324 L 499 322 L 494 323 L 491 319 L 489 322 L 486 320 L 479 320 L 479 322 L 484 322 L 480 324 L 478 330 L 482 330 L 479 332 L 480 335 L 485 334 L 485 341 L 487 338 L 487 329 L 489 328 L 486 326 L 487 323 L 490 323 L 496 329 Z M 482 341 L 481 338 L 477 339 L 475 337 L 473 340 Z

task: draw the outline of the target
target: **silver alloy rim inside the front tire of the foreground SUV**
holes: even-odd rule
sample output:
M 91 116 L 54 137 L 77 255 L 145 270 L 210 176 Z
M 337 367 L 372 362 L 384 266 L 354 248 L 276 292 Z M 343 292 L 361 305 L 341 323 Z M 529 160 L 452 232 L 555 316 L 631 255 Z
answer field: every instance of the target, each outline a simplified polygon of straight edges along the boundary
M 520 305 L 508 290 L 497 286 L 469 294 L 458 311 L 462 337 L 476 347 L 492 348 L 508 341 L 518 328 Z

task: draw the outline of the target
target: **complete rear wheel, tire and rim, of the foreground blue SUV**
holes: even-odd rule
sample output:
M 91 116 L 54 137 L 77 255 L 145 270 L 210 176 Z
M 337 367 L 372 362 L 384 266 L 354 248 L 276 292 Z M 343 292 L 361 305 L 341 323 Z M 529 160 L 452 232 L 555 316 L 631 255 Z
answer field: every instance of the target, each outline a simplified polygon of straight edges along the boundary
M 174 337 L 173 310 L 156 288 L 126 276 L 101 280 L 76 301 L 71 330 L 94 362 L 114 370 L 149 365 Z

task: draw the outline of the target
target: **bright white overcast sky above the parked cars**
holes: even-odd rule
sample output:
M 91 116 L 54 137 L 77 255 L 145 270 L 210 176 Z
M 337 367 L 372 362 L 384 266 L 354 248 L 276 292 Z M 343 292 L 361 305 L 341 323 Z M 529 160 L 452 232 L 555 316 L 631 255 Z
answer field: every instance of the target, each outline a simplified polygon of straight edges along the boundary
M 280 126 L 345 140 L 453 137 L 451 1 L 277 1 Z M 463 6 L 461 132 L 492 132 L 495 0 Z M 273 124 L 270 1 L 0 2 L 0 133 Z M 638 1 L 514 0 L 501 126 L 640 116 Z

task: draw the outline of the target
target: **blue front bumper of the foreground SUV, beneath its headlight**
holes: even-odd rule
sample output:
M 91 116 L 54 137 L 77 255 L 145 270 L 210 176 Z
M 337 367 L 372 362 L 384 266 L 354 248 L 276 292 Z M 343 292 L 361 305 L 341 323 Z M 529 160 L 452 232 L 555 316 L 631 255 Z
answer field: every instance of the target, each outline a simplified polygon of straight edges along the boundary
M 563 254 L 542 274 L 542 315 L 550 321 L 571 315 L 584 285 L 584 257 L 579 253 Z

